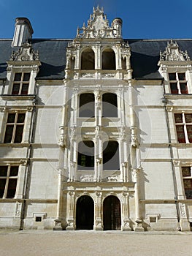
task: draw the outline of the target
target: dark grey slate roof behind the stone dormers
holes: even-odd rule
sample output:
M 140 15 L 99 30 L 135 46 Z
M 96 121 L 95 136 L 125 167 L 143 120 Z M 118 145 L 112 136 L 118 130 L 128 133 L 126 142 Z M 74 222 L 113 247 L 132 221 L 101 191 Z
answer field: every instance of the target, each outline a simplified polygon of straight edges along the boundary
M 66 46 L 71 39 L 31 39 L 39 51 L 37 79 L 63 79 L 66 65 Z M 131 46 L 131 67 L 136 79 L 162 79 L 158 72 L 160 50 L 164 52 L 169 39 L 125 39 Z M 192 39 L 175 39 L 180 50 L 187 50 L 192 60 Z M 0 39 L 0 79 L 7 75 L 7 60 L 12 53 L 12 39 Z M 14 48 L 14 50 L 18 50 Z

